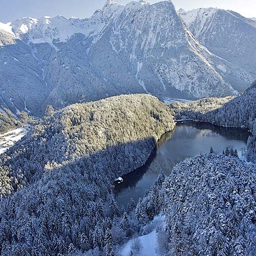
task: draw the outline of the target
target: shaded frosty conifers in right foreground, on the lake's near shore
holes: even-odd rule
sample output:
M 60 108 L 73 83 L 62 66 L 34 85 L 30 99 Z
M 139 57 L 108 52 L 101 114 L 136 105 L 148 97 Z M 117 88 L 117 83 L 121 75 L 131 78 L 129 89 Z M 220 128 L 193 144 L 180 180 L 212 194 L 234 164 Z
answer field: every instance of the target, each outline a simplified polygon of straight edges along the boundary
M 253 255 L 256 168 L 236 153 L 200 154 L 160 175 L 139 201 L 141 229 L 156 215 L 161 255 Z M 148 224 L 147 224 L 148 225 Z

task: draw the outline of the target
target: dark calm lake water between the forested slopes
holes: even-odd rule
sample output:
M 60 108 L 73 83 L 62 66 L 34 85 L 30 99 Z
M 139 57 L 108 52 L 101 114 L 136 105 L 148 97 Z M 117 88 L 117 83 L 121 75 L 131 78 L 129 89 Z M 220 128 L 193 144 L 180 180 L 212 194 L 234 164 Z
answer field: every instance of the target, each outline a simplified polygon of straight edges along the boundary
M 222 153 L 228 148 L 237 149 L 242 156 L 249 132 L 247 129 L 221 127 L 203 122 L 178 122 L 172 133 L 167 133 L 158 142 L 146 164 L 123 176 L 124 181 L 115 186 L 116 199 L 126 205 L 131 198 L 135 202 L 150 189 L 160 172 L 169 175 L 178 162 L 187 157 L 208 153 L 210 147 Z

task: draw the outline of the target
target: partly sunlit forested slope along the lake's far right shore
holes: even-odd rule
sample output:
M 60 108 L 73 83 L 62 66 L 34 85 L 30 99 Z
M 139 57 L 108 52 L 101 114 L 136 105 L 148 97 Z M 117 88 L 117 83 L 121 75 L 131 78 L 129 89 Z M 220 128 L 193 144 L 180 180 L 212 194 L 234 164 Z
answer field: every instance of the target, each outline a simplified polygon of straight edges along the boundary
M 247 158 L 256 161 L 256 88 L 252 86 L 234 98 L 206 98 L 191 103 L 170 104 L 177 119 L 193 119 L 213 124 L 246 127 L 251 131 L 247 143 Z

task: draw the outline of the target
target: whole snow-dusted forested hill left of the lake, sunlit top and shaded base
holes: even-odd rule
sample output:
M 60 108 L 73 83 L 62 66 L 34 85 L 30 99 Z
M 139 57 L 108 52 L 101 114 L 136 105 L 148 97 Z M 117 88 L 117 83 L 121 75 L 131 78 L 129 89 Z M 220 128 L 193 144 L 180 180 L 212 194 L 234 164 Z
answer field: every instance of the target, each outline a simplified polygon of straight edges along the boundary
M 113 255 L 139 226 L 118 207 L 112 182 L 143 165 L 174 125 L 148 95 L 50 111 L 0 158 L 2 255 Z

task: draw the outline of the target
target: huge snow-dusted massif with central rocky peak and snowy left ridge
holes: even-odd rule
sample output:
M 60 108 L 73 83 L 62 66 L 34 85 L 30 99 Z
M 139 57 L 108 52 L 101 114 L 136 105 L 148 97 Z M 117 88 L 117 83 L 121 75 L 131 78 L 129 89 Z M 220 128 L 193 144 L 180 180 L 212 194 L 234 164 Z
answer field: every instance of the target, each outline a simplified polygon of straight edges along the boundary
M 27 17 L 0 29 L 0 103 L 13 113 L 40 116 L 48 104 L 122 93 L 225 96 L 236 93 L 237 81 L 247 83 L 194 38 L 170 1 L 109 0 L 87 19 Z M 217 68 L 224 62 L 229 76 Z

